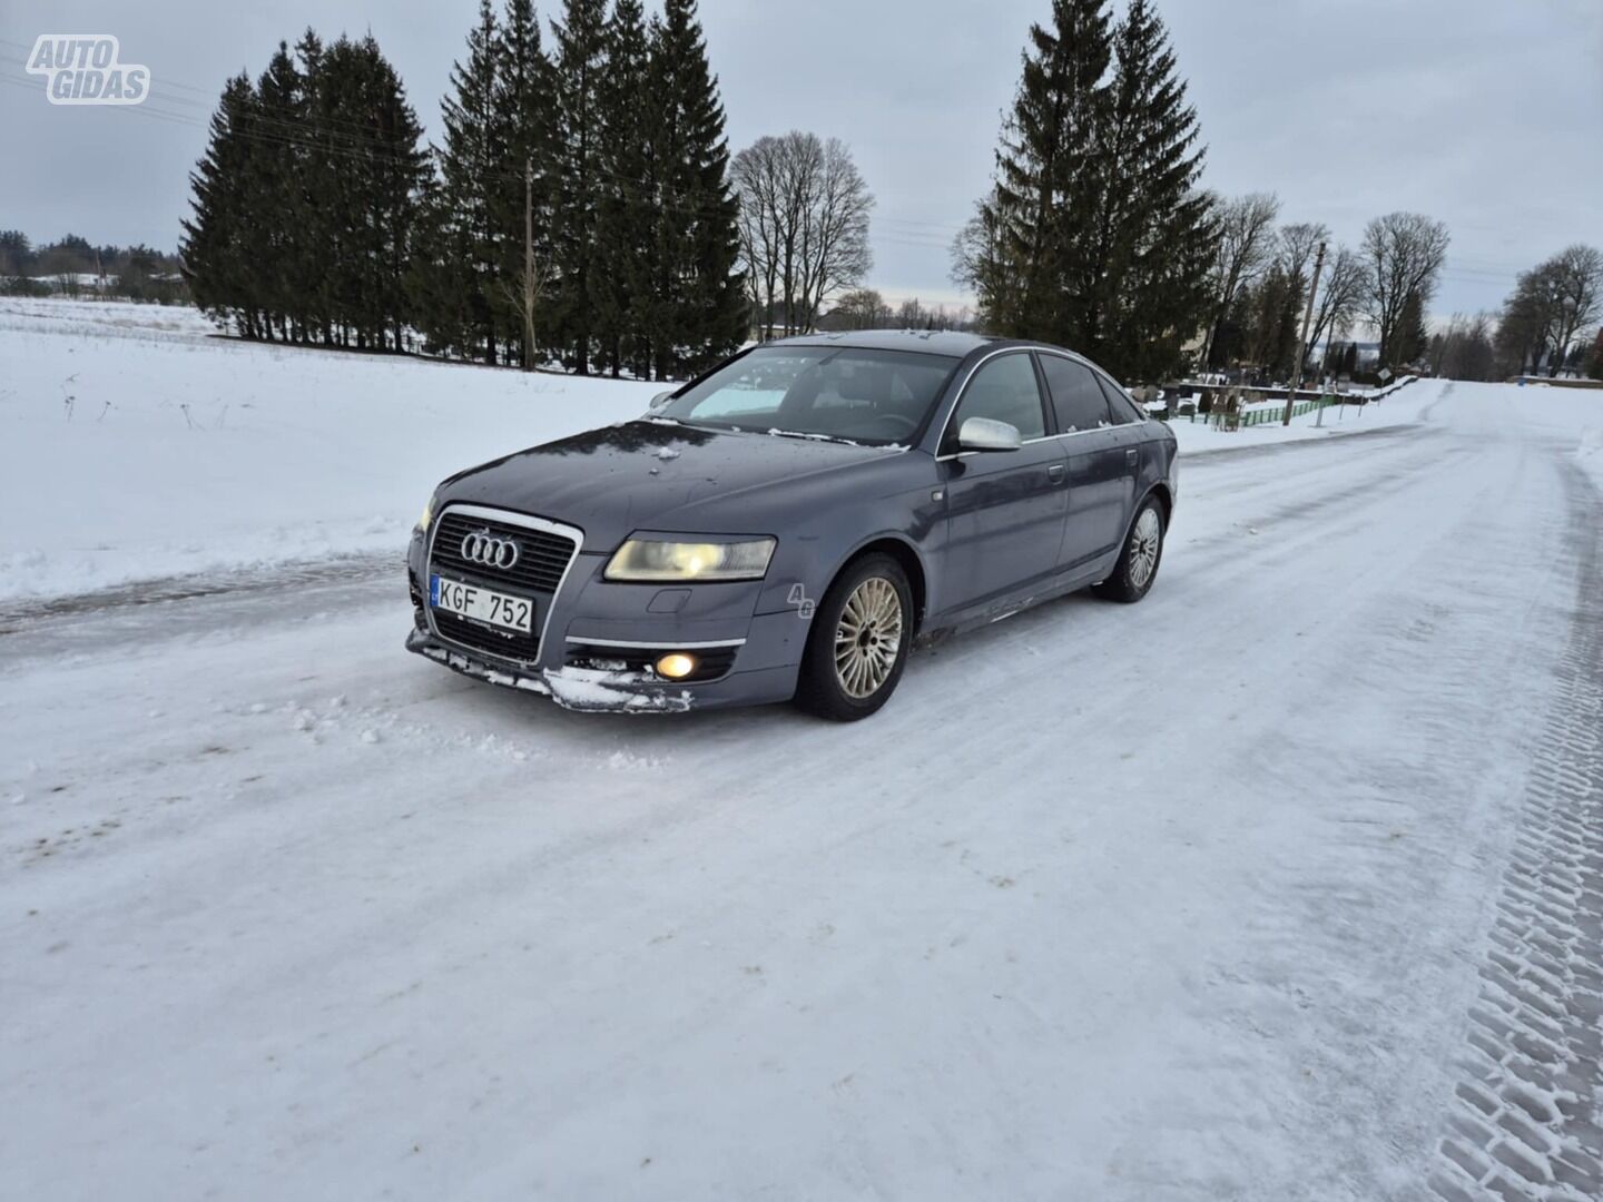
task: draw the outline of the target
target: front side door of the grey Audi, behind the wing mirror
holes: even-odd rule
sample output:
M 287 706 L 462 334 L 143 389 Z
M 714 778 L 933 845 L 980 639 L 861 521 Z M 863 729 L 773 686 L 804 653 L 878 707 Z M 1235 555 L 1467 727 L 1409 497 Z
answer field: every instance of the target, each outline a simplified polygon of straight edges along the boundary
M 1018 428 L 1018 450 L 959 452 L 971 417 Z M 1047 409 L 1028 349 L 987 359 L 970 377 L 946 426 L 946 611 L 1002 604 L 1058 569 L 1068 511 L 1068 465 L 1048 438 Z

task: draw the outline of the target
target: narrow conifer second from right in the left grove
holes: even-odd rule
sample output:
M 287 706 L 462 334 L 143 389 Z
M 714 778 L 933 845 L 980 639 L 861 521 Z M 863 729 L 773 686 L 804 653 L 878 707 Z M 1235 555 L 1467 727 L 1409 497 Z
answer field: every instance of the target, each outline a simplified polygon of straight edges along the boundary
M 654 253 L 654 136 L 662 96 L 651 87 L 654 37 L 648 37 L 640 0 L 617 0 L 608 22 L 608 71 L 601 85 L 601 130 L 596 151 L 600 202 L 596 271 L 588 280 L 595 311 L 600 367 L 619 375 L 638 369 L 649 343 L 646 288 Z

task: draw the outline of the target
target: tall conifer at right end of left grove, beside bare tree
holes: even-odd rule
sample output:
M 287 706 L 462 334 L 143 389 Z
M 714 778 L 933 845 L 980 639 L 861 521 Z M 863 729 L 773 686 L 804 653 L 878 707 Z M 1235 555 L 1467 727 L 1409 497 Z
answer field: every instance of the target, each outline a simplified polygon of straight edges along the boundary
M 652 83 L 664 191 L 656 253 L 667 269 L 654 296 L 652 361 L 660 380 L 712 365 L 747 333 L 745 282 L 736 269 L 739 200 L 696 0 L 665 0 Z

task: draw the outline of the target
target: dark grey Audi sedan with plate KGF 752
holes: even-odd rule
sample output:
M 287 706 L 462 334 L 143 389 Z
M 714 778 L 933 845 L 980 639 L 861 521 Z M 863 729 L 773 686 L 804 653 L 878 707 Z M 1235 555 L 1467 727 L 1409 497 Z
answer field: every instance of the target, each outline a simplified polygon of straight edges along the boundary
M 1087 587 L 1146 596 L 1177 484 L 1169 426 L 1072 351 L 784 338 L 444 481 L 406 646 L 575 710 L 866 718 L 915 639 Z

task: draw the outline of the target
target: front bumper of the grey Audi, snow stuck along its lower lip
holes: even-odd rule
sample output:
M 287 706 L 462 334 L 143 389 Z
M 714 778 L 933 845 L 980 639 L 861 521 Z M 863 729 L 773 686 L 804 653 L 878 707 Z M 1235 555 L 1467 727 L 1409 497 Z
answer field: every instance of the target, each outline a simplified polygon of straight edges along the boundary
M 569 710 L 614 713 L 763 705 L 795 696 L 811 623 L 797 609 L 757 614 L 761 582 L 689 588 L 612 583 L 603 577 L 606 555 L 580 553 L 545 601 L 537 655 L 516 660 L 441 635 L 425 609 L 426 558 L 425 540 L 414 537 L 407 555 L 414 628 L 406 647 L 474 680 L 539 692 Z M 667 681 L 649 668 L 609 664 L 606 649 L 625 644 L 656 652 L 718 644 L 720 675 Z M 705 659 L 705 651 L 701 654 Z

